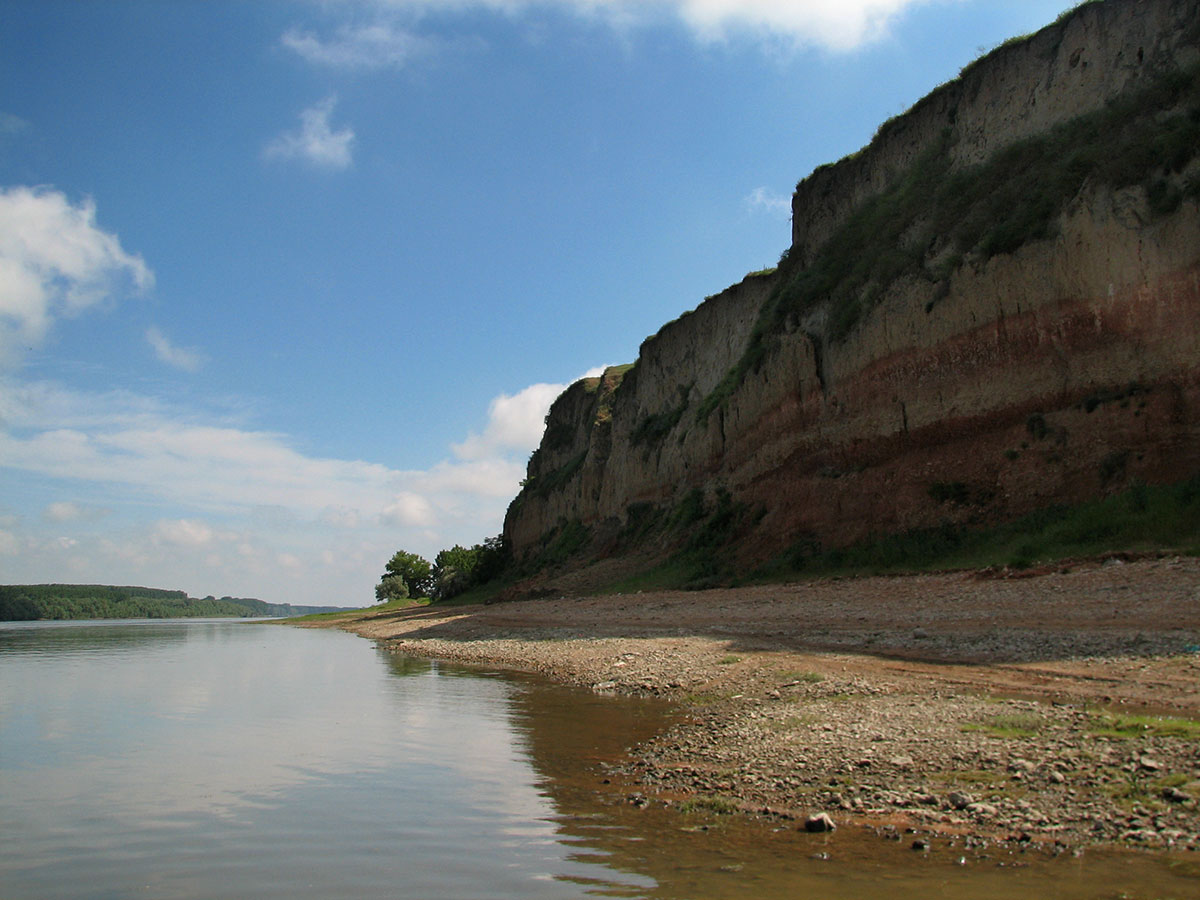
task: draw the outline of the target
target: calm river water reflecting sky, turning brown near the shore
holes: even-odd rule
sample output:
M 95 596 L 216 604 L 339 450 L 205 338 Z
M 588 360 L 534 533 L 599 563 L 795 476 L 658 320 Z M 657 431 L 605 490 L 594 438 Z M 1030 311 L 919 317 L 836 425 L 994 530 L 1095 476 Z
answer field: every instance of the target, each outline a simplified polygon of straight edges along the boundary
M 0 898 L 1194 898 L 1187 856 L 914 853 L 625 802 L 665 708 L 229 620 L 0 623 Z

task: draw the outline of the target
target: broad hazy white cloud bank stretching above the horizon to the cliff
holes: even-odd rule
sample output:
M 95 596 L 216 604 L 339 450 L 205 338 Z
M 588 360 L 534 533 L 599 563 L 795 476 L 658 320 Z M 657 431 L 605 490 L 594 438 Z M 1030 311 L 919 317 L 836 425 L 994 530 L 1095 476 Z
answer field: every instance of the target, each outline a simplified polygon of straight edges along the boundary
M 499 530 L 562 388 L 500 395 L 444 458 L 398 469 L 128 392 L 0 377 L 0 496 L 5 479 L 58 494 L 40 515 L 0 510 L 6 576 L 368 604 L 397 547 L 432 559 Z

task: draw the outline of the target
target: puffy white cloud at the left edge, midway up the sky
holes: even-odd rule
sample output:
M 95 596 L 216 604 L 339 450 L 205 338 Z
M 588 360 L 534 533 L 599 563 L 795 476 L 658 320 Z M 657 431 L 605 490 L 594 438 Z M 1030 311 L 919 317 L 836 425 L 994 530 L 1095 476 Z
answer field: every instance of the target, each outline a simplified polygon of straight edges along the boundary
M 152 284 L 142 258 L 96 226 L 90 199 L 77 206 L 58 191 L 0 190 L 0 366 L 41 344 L 55 319 L 126 286 L 145 292 Z

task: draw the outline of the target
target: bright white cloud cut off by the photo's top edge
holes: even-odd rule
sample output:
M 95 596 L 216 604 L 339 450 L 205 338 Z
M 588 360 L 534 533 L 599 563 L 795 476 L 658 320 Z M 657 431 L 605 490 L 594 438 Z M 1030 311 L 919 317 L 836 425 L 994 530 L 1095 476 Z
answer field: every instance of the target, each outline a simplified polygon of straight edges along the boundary
M 906 10 L 937 0 L 388 0 L 402 10 L 482 8 L 506 14 L 566 10 L 622 28 L 673 18 L 703 41 L 734 34 L 782 37 L 798 44 L 851 50 L 887 34 Z

